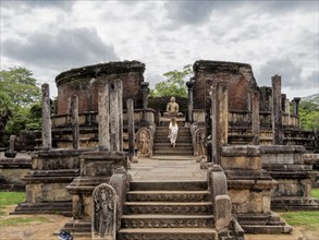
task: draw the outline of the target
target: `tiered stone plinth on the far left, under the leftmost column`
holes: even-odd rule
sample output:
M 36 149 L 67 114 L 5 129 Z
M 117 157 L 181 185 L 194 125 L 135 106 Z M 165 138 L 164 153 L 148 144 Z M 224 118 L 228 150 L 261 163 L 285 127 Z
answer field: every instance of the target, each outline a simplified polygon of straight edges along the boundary
M 13 214 L 60 213 L 71 216 L 72 195 L 68 192 L 66 185 L 79 175 L 78 156 L 83 152 L 37 152 L 32 159 L 32 170 L 22 178 L 26 183 L 26 203 L 21 203 Z

